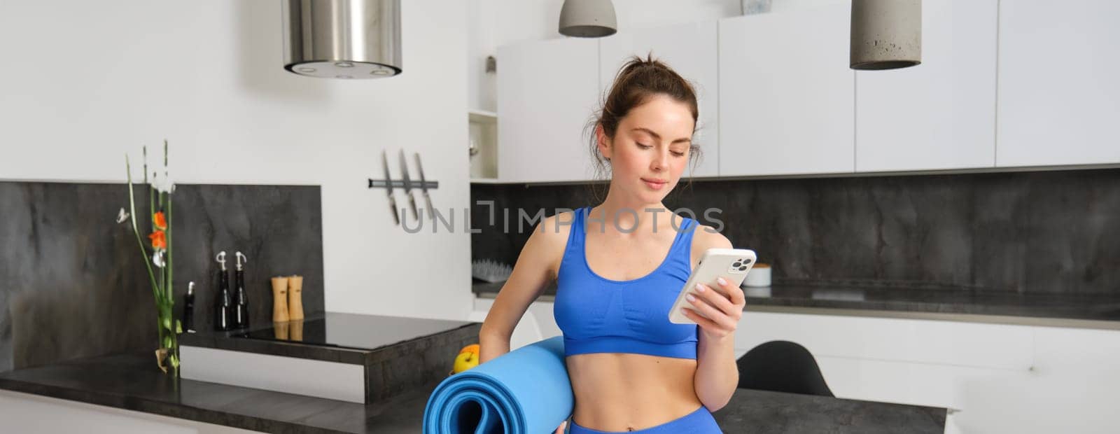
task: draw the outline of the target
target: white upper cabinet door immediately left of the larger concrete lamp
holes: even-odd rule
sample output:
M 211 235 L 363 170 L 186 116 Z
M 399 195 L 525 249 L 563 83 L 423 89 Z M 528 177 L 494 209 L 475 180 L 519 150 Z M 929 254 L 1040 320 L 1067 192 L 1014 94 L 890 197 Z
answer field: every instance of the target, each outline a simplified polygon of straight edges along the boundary
M 719 21 L 719 174 L 855 170 L 850 6 Z

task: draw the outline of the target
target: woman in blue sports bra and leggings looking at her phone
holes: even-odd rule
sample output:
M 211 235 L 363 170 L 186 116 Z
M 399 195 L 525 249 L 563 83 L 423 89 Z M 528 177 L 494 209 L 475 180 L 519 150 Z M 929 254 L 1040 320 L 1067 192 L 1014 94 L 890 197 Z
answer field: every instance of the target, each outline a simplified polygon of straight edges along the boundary
M 699 285 L 685 309 L 698 326 L 668 319 L 703 252 L 731 247 L 662 205 L 699 152 L 697 116 L 684 78 L 650 57 L 627 62 L 594 126 L 591 152 L 612 173 L 606 199 L 541 221 L 483 323 L 486 362 L 510 351 L 514 326 L 557 280 L 554 314 L 576 397 L 571 433 L 720 432 L 710 412 L 738 384 L 743 291 L 721 282 L 724 296 Z

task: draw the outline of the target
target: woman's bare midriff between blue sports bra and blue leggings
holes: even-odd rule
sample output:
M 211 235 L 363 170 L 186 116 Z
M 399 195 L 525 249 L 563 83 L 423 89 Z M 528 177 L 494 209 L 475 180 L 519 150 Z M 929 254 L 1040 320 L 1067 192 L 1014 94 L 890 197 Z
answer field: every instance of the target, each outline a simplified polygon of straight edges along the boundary
M 568 356 L 572 421 L 597 431 L 636 431 L 685 416 L 701 403 L 694 359 L 635 353 Z

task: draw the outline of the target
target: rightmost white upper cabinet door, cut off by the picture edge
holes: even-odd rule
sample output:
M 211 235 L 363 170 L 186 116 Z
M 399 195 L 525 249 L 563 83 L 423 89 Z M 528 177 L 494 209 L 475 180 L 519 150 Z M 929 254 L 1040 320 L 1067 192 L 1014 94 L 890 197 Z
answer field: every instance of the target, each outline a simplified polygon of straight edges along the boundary
M 1120 1 L 1002 1 L 996 164 L 1120 163 Z

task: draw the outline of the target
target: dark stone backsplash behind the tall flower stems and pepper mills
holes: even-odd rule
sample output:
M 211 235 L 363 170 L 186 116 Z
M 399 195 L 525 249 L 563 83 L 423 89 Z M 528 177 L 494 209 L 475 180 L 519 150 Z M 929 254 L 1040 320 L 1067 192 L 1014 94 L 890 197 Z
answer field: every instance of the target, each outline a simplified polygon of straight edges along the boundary
M 174 198 L 176 318 L 194 281 L 195 328 L 213 327 L 220 251 L 231 285 L 234 252 L 249 258 L 252 323 L 272 320 L 273 275 L 304 275 L 305 311 L 323 311 L 318 186 L 179 185 Z M 124 183 L 0 182 L 0 371 L 156 349 L 147 271 L 131 227 L 115 223 L 128 206 Z M 147 213 L 142 188 L 137 207 Z

